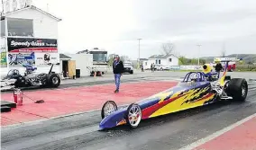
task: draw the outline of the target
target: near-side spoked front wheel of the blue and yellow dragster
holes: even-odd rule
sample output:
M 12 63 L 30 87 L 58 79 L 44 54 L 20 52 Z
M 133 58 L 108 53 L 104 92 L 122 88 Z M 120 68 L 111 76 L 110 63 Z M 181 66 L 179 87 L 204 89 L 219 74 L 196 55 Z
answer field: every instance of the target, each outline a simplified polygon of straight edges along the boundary
M 142 120 L 142 110 L 138 104 L 132 103 L 127 109 L 127 123 L 131 128 L 137 128 Z

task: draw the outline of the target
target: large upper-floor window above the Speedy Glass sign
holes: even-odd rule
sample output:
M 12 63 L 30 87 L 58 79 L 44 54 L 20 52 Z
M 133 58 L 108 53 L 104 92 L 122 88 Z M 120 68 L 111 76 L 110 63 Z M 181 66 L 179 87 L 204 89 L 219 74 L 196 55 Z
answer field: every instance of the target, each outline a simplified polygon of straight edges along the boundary
M 8 36 L 33 37 L 33 24 L 30 19 L 8 18 Z

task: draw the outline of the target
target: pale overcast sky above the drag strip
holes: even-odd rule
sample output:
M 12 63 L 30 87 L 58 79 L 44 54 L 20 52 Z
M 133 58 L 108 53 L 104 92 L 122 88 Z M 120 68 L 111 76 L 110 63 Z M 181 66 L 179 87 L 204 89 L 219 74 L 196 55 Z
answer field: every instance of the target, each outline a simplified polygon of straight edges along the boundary
M 94 47 L 138 58 L 171 41 L 186 57 L 256 53 L 256 0 L 33 0 L 61 18 L 59 51 Z M 224 44 L 225 43 L 225 44 Z M 197 48 L 201 44 L 201 50 Z

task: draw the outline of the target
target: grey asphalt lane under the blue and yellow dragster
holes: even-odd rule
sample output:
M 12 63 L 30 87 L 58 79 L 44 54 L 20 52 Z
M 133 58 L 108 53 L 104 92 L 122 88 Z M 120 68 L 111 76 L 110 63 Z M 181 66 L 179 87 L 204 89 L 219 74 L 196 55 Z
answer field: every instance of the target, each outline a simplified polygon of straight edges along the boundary
M 155 119 L 138 128 L 98 130 L 100 111 L 1 129 L 2 149 L 178 149 L 256 113 L 256 84 L 247 101 L 222 101 Z

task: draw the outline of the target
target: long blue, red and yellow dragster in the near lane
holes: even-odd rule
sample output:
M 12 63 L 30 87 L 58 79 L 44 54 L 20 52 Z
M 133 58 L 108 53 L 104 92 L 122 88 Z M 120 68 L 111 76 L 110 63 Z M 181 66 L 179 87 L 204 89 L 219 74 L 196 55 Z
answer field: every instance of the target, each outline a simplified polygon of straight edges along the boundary
M 114 101 L 106 101 L 101 110 L 102 121 L 99 128 L 114 128 L 119 125 L 137 128 L 142 119 L 205 106 L 215 101 L 245 101 L 248 93 L 247 81 L 243 78 L 231 78 L 226 72 L 227 67 L 220 78 L 209 78 L 204 72 L 189 72 L 177 86 L 119 110 Z

